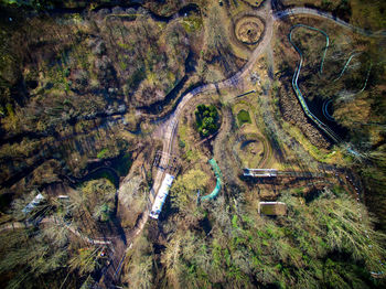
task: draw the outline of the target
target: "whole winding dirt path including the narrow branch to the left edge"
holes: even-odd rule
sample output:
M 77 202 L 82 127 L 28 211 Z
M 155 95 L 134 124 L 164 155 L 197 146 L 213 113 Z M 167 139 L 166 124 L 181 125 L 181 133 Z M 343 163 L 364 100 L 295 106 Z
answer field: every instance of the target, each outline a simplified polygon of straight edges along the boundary
M 314 17 L 321 17 L 331 21 L 334 21 L 336 24 L 350 29 L 356 33 L 366 35 L 366 36 L 373 36 L 373 38 L 385 38 L 386 32 L 385 31 L 378 31 L 378 32 L 369 32 L 366 30 L 363 30 L 361 28 L 355 28 L 351 25 L 350 23 L 346 23 L 335 17 L 333 17 L 330 13 L 321 12 L 314 9 L 308 9 L 308 8 L 293 8 L 293 9 L 287 9 L 282 11 L 277 11 L 274 13 L 271 9 L 271 1 L 267 0 L 265 1 L 264 6 L 260 7 L 258 10 L 255 11 L 257 15 L 259 15 L 261 19 L 265 20 L 265 32 L 262 34 L 262 39 L 260 40 L 258 46 L 255 49 L 255 51 L 251 53 L 247 64 L 235 75 L 233 75 L 230 78 L 225 79 L 223 82 L 216 83 L 216 84 L 207 84 L 203 85 L 201 87 L 194 88 L 190 93 L 187 93 L 183 99 L 180 101 L 175 110 L 162 122 L 160 124 L 160 128 L 157 130 L 158 137 L 162 139 L 163 142 L 163 150 L 162 150 L 162 158 L 160 160 L 160 167 L 165 167 L 169 163 L 169 156 L 172 152 L 173 148 L 173 141 L 175 137 L 175 131 L 179 124 L 180 115 L 184 108 L 184 106 L 196 95 L 206 93 L 206 92 L 214 92 L 216 89 L 224 89 L 229 87 L 238 86 L 240 83 L 244 82 L 244 78 L 247 77 L 254 69 L 254 66 L 258 60 L 258 57 L 266 51 L 270 50 L 270 43 L 274 35 L 274 23 L 275 21 L 280 21 L 282 18 L 296 15 L 296 14 L 309 14 Z M 262 163 L 266 160 L 262 160 Z M 164 178 L 164 171 L 158 170 L 153 186 L 151 189 L 152 192 L 158 192 L 161 182 Z M 136 237 L 142 232 L 144 225 L 147 224 L 149 220 L 149 211 L 143 212 L 141 220 L 138 222 L 138 225 L 135 229 L 126 233 L 126 239 L 127 245 L 122 242 L 115 242 L 112 240 L 98 240 L 98 239 L 92 239 L 87 236 L 84 236 L 81 232 L 72 227 L 71 225 L 63 224 L 69 232 L 77 235 L 85 242 L 89 244 L 95 245 L 112 245 L 114 249 L 114 256 L 111 257 L 111 266 L 106 267 L 106 269 L 103 272 L 104 278 L 99 281 L 99 285 L 103 282 L 105 283 L 105 288 L 108 287 L 107 285 L 114 283 L 117 279 L 119 279 L 119 274 L 121 269 L 122 261 L 125 259 L 127 250 L 131 249 L 132 243 L 135 242 Z M 51 218 L 43 218 L 41 223 L 56 223 L 54 220 Z M 13 228 L 21 228 L 25 227 L 23 223 L 13 223 L 13 224 L 7 224 L 4 226 L 0 227 L 0 232 L 7 231 L 7 229 L 13 229 Z M 105 280 L 104 280 L 105 279 Z

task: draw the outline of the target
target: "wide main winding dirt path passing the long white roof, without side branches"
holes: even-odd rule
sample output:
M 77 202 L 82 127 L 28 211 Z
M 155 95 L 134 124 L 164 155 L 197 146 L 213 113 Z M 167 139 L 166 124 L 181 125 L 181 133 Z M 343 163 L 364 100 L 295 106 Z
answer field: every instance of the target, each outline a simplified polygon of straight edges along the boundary
M 176 108 L 173 113 L 169 115 L 159 126 L 159 128 L 154 131 L 153 137 L 162 139 L 163 149 L 162 149 L 162 157 L 159 163 L 159 167 L 165 168 L 169 163 L 170 154 L 172 153 L 173 149 L 173 141 L 175 137 L 175 131 L 179 125 L 179 118 L 181 116 L 181 113 L 185 105 L 196 95 L 207 92 L 215 92 L 216 89 L 224 89 L 224 88 L 230 88 L 236 87 L 239 84 L 244 82 L 244 78 L 247 77 L 254 69 L 254 65 L 256 64 L 258 57 L 266 51 L 270 49 L 271 39 L 274 35 L 274 23 L 276 21 L 279 21 L 281 18 L 294 15 L 294 14 L 310 14 L 315 17 L 322 17 L 324 19 L 329 19 L 334 21 L 336 24 L 342 25 L 344 28 L 351 29 L 357 33 L 364 34 L 366 36 L 386 36 L 386 32 L 368 32 L 363 29 L 355 28 L 329 13 L 321 12 L 314 9 L 308 9 L 308 8 L 293 8 L 288 9 L 283 11 L 279 11 L 274 13 L 271 9 L 271 1 L 266 1 L 262 7 L 260 7 L 257 11 L 255 11 L 257 15 L 259 15 L 261 19 L 265 20 L 265 32 L 262 34 L 262 39 L 260 40 L 258 46 L 255 49 L 255 51 L 251 53 L 247 64 L 235 75 L 229 77 L 228 79 L 225 79 L 223 82 L 218 82 L 215 84 L 207 84 L 200 86 L 197 88 L 194 88 L 190 93 L 183 96 Z M 266 160 L 264 160 L 266 162 Z M 164 178 L 165 172 L 163 170 L 158 170 L 154 176 L 153 186 L 151 189 L 151 193 L 158 192 L 162 180 Z M 129 245 L 122 255 L 120 259 L 120 264 L 125 259 L 125 254 L 127 250 L 131 249 L 132 243 L 135 242 L 136 237 L 142 232 L 144 225 L 149 221 L 149 211 L 147 210 L 143 212 L 142 217 L 139 220 L 137 227 L 128 233 L 126 233 L 127 244 Z M 109 274 L 107 274 L 109 275 Z M 117 275 L 117 271 L 115 271 L 115 276 Z M 119 271 L 118 271 L 119 275 Z M 115 279 L 115 278 L 114 278 Z

